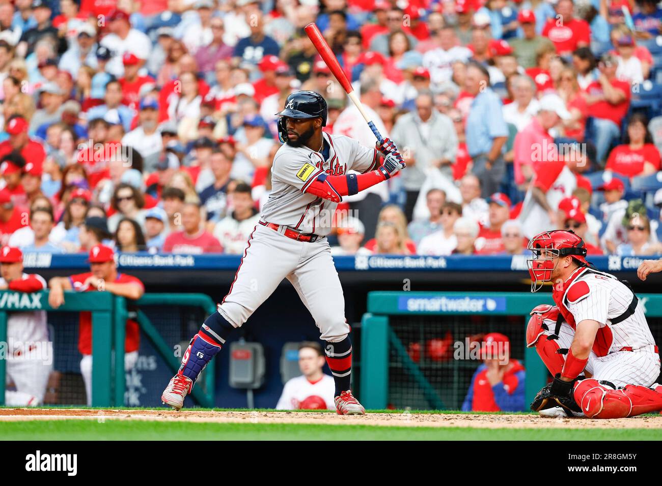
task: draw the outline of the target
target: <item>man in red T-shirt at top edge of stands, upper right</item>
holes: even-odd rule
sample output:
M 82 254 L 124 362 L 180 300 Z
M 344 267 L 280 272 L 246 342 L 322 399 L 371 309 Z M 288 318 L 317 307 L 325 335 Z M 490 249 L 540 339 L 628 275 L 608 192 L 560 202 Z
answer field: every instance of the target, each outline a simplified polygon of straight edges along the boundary
M 559 56 L 568 56 L 579 47 L 591 44 L 591 27 L 586 20 L 575 19 L 573 0 L 559 0 L 556 15 L 547 19 L 542 35 L 553 42 Z

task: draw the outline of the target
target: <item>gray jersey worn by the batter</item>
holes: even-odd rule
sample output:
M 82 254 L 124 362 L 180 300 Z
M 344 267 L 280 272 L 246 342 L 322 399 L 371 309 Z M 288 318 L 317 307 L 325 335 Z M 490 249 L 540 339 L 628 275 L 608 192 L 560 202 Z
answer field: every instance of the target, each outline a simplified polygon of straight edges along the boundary
M 323 133 L 330 145 L 328 160 L 308 147 L 285 144 L 273 157 L 271 194 L 262 208 L 265 222 L 287 225 L 302 233 L 328 235 L 337 203 L 307 194 L 306 188 L 320 174 L 344 175 L 353 170 L 366 173 L 377 169 L 377 151 L 342 136 Z

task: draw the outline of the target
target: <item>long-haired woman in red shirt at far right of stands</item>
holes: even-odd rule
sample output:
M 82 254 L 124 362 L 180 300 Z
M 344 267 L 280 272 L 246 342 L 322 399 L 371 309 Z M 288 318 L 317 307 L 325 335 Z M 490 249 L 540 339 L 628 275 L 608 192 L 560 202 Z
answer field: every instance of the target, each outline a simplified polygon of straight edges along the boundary
M 611 151 L 605 169 L 626 177 L 651 175 L 660 170 L 660 153 L 643 114 L 632 115 L 625 143 Z

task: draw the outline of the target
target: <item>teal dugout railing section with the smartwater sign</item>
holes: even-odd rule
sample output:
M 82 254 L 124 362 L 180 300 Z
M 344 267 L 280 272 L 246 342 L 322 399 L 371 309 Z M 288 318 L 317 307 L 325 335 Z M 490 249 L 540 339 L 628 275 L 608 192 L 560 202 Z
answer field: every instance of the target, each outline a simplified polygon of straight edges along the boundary
M 638 294 L 662 342 L 662 296 Z M 531 309 L 548 293 L 369 292 L 361 320 L 360 399 L 366 409 L 459 409 L 481 360 L 467 344 L 486 333 L 510 338 L 526 368 L 526 406 L 549 373 L 524 338 Z

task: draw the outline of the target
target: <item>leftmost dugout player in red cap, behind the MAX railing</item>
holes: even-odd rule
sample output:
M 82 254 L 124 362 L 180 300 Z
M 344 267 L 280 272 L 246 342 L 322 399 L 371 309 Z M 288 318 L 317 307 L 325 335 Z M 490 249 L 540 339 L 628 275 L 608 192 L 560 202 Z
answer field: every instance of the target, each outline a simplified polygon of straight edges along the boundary
M 0 249 L 0 290 L 39 292 L 46 289 L 46 280 L 38 274 L 23 271 L 23 253 L 15 247 Z M 44 401 L 52 364 L 44 360 L 40 346 L 52 346 L 48 337 L 46 311 L 12 312 L 7 316 L 7 382 L 15 390 L 5 391 L 5 405 L 34 407 Z M 52 349 L 50 349 L 52 352 Z

